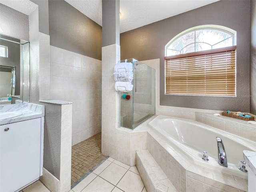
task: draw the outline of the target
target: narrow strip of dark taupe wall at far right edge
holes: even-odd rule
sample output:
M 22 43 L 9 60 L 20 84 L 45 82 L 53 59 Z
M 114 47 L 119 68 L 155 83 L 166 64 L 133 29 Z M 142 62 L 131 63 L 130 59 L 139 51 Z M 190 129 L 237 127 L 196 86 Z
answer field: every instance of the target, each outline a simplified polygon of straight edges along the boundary
M 251 0 L 250 113 L 256 115 L 256 1 Z

